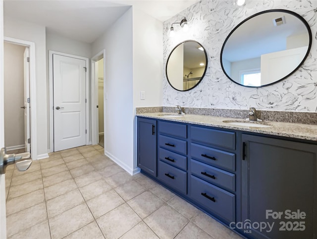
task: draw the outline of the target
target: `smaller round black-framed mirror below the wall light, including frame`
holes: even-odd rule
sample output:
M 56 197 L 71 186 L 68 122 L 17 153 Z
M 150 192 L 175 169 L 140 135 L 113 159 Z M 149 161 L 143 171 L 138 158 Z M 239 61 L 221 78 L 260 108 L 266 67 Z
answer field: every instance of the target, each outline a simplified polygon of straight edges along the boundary
M 175 90 L 187 91 L 196 87 L 207 69 L 207 53 L 196 41 L 178 44 L 169 54 L 166 63 L 168 83 Z

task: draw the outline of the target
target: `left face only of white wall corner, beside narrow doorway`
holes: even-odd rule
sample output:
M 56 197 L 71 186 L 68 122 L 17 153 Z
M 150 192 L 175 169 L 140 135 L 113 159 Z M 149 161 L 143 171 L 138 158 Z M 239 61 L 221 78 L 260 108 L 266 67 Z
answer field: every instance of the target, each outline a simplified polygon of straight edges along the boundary
M 133 173 L 132 8 L 92 44 L 92 56 L 106 50 L 105 152 Z

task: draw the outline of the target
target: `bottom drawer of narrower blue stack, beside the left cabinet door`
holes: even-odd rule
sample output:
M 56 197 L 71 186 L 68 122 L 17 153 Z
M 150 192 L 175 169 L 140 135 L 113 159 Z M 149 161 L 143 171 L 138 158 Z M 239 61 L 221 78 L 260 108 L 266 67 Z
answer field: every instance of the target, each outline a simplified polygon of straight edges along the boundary
M 177 191 L 187 194 L 186 172 L 176 169 L 168 164 L 165 164 L 162 161 L 159 161 L 158 166 L 158 178 L 162 182 L 165 182 L 167 185 L 169 185 Z

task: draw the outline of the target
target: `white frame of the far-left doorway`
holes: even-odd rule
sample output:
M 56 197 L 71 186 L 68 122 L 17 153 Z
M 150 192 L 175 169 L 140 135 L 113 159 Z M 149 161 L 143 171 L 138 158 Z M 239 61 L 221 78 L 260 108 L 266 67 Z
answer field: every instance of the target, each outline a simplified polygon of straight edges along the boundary
M 35 69 L 35 43 L 11 37 L 4 37 L 4 42 L 29 48 L 29 68 L 30 68 L 30 138 L 31 138 L 31 158 L 38 159 L 37 155 L 37 120 L 36 120 L 36 69 Z M 3 79 L 4 80 L 4 79 Z

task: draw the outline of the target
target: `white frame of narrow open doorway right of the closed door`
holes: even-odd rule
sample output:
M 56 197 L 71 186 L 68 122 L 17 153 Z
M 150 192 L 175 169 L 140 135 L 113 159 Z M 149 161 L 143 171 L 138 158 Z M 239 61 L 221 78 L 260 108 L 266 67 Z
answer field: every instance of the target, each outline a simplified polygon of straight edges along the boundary
M 106 50 L 100 51 L 98 54 L 96 54 L 91 59 L 91 139 L 92 144 L 98 144 L 99 143 L 99 126 L 98 126 L 98 111 L 96 110 L 96 107 L 98 105 L 98 64 L 97 61 L 104 59 L 104 140 L 105 140 L 105 134 L 106 134 L 106 120 L 105 120 L 105 92 L 106 92 Z M 95 109 L 95 110 L 94 110 Z M 106 145 L 106 144 L 105 144 Z M 105 148 L 104 145 L 104 148 Z

